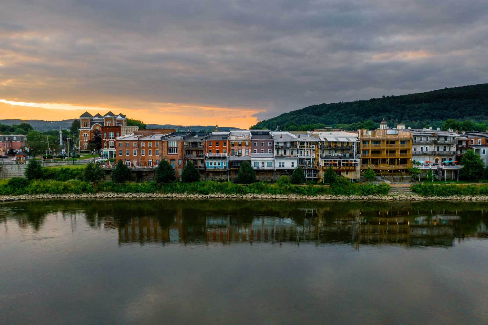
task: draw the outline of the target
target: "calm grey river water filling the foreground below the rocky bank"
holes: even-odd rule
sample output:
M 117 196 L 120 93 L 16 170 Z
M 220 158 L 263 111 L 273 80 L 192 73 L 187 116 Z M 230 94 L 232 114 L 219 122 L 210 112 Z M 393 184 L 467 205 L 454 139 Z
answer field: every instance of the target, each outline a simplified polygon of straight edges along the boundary
M 487 211 L 0 204 L 0 324 L 487 324 Z

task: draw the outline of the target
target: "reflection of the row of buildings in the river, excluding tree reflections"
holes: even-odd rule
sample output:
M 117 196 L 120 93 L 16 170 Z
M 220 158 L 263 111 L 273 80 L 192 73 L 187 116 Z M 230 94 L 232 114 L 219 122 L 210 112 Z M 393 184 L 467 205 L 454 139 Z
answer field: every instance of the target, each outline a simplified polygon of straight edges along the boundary
M 409 208 L 392 211 L 353 209 L 340 216 L 327 208 L 298 209 L 291 218 L 255 216 L 240 218 L 214 215 L 185 218 L 175 210 L 163 225 L 160 218 L 130 218 L 119 224 L 119 244 L 125 243 L 348 243 L 355 248 L 368 244 L 405 246 L 451 246 L 459 238 L 460 216 L 411 213 Z M 486 236 L 485 223 L 462 237 Z

